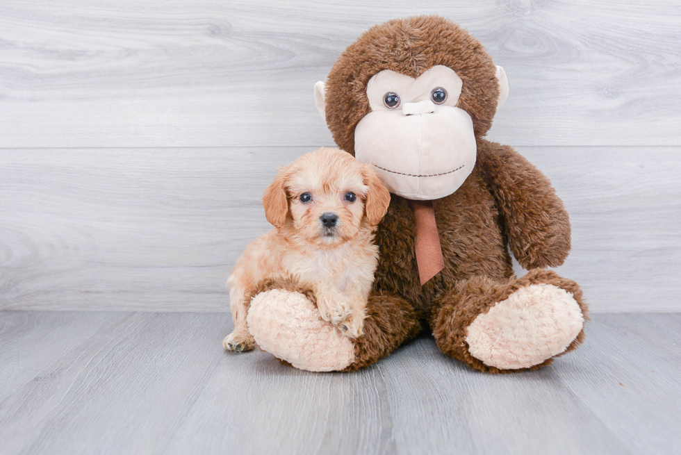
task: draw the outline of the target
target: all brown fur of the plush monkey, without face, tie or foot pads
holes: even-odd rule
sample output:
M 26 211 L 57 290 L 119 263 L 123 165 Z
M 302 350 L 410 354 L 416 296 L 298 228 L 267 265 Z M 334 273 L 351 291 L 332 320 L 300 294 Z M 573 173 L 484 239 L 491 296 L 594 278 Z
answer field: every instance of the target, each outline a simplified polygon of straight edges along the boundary
M 498 81 L 491 57 L 462 28 L 434 16 L 397 19 L 370 28 L 350 45 L 326 85 L 327 124 L 336 143 L 354 154 L 355 127 L 370 112 L 366 85 L 372 76 L 391 69 L 417 77 L 434 65 L 454 69 L 463 81 L 457 106 L 473 119 L 477 163 L 456 192 L 433 201 L 445 268 L 424 286 L 414 254 L 413 213 L 405 199 L 391 195 L 376 237 L 381 256 L 364 335 L 355 341 L 356 361 L 347 370 L 390 354 L 429 324 L 445 354 L 477 370 L 504 372 L 471 356 L 466 329 L 475 317 L 530 283 L 573 293 L 587 317 L 574 281 L 547 270 L 530 270 L 521 279 L 513 274 L 509 247 L 527 269 L 561 265 L 570 251 L 570 222 L 538 169 L 511 147 L 483 138 L 495 114 Z M 582 330 L 567 351 L 583 339 Z

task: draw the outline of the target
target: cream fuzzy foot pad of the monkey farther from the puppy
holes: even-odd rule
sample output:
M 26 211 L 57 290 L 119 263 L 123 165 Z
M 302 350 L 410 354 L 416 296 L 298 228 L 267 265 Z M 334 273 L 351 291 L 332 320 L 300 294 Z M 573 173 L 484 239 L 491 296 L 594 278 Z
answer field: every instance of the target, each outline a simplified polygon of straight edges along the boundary
M 516 370 L 557 356 L 577 338 L 584 315 L 573 295 L 550 284 L 516 290 L 468 326 L 468 351 L 485 365 Z

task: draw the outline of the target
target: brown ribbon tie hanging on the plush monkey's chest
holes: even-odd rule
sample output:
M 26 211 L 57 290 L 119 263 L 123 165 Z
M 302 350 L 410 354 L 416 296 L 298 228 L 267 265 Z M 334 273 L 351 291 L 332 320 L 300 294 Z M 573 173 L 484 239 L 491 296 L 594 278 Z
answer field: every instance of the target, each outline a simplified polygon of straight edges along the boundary
M 445 267 L 432 201 L 409 201 L 416 218 L 414 247 L 421 286 Z

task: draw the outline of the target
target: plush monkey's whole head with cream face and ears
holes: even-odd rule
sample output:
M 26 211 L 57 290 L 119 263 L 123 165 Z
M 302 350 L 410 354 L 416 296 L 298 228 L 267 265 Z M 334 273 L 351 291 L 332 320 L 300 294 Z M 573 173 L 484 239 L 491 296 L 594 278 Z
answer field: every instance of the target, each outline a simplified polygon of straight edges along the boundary
M 391 192 L 422 200 L 466 180 L 476 140 L 507 94 L 506 74 L 482 44 L 437 16 L 370 28 L 315 85 L 338 147 L 375 165 Z

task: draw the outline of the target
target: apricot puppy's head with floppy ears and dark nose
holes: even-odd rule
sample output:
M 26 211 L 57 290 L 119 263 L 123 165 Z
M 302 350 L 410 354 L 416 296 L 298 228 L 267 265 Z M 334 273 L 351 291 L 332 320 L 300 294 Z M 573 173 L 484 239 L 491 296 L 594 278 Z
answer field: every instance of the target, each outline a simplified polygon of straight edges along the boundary
M 334 247 L 386 214 L 390 193 L 371 165 L 338 149 L 305 154 L 279 174 L 265 190 L 268 221 L 288 226 L 315 245 Z

